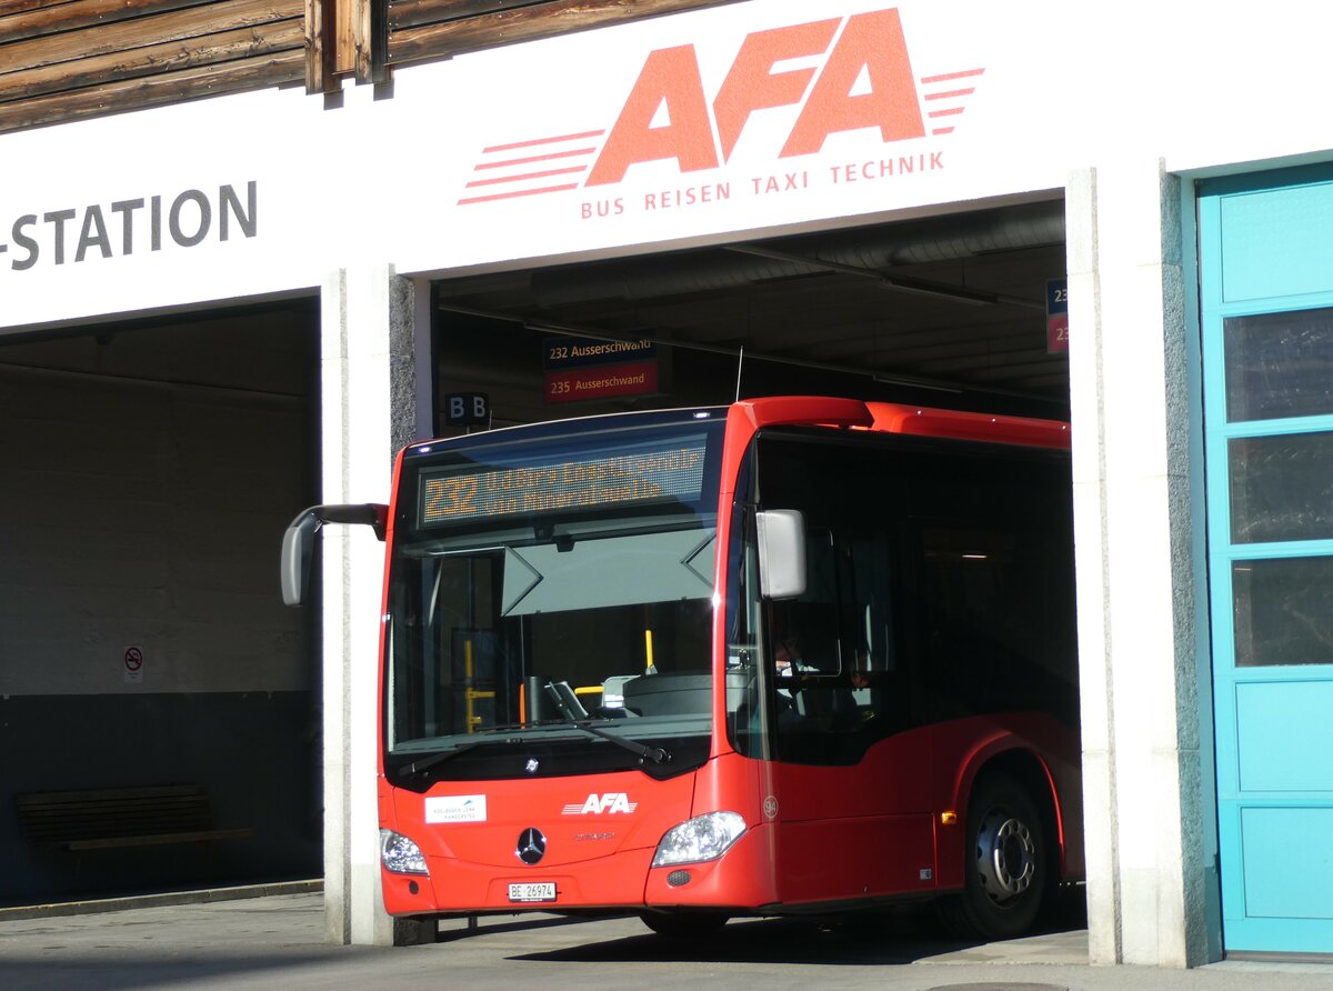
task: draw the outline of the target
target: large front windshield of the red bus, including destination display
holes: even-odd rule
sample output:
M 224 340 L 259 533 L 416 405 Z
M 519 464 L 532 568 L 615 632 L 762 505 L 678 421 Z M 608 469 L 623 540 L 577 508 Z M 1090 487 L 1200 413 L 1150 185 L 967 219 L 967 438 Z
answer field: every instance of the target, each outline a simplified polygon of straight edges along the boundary
M 716 411 L 625 415 L 404 455 L 385 774 L 697 767 L 710 735 Z

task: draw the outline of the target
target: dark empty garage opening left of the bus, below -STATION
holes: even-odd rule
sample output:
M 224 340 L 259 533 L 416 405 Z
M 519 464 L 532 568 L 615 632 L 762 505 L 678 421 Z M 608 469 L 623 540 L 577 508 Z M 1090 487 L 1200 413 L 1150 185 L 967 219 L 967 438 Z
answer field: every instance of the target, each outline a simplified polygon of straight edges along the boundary
M 0 904 L 317 878 L 313 300 L 0 345 Z

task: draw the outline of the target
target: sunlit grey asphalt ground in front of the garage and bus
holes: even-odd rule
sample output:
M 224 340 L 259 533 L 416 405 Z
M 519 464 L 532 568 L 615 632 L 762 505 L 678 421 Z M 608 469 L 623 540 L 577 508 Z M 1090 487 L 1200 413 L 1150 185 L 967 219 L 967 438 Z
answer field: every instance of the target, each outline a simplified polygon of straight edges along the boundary
M 1076 920 L 1077 922 L 1077 920 Z M 733 920 L 677 943 L 637 919 L 445 920 L 435 943 L 324 939 L 316 884 L 0 910 L 0 988 L 541 988 L 698 991 L 1333 991 L 1333 960 L 1224 960 L 1193 970 L 1093 967 L 1085 928 L 960 944 L 926 912 L 846 920 Z

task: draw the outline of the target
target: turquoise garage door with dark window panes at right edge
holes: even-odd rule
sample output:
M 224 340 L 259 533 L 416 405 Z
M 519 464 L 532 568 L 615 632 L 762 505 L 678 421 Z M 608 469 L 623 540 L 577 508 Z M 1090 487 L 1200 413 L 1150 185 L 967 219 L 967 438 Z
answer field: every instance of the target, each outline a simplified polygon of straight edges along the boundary
M 1333 168 L 1201 189 L 1222 940 L 1333 952 Z

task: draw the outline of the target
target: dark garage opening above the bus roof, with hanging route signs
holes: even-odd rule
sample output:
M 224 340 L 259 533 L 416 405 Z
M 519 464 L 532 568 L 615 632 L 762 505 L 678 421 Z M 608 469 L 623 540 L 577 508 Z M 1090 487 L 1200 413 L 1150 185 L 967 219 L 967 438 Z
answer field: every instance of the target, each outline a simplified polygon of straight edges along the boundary
M 766 395 L 1068 420 L 1064 279 L 1056 199 L 447 279 L 439 393 L 491 427 Z M 1084 926 L 1081 888 L 1044 924 Z

